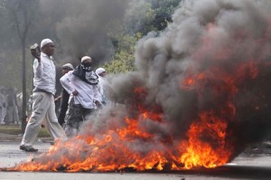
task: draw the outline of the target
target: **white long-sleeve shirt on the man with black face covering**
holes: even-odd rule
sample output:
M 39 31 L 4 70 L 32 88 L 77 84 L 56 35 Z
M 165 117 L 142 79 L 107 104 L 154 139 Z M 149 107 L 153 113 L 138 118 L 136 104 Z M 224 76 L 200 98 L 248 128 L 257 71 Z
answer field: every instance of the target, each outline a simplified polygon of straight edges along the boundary
M 73 96 L 74 103 L 80 104 L 86 109 L 96 109 L 95 101 L 99 101 L 98 85 L 91 85 L 87 82 L 81 81 L 77 76 L 72 74 L 73 71 L 69 71 L 61 77 L 61 85 L 67 90 L 69 94 L 72 94 L 74 90 L 77 90 L 79 94 Z

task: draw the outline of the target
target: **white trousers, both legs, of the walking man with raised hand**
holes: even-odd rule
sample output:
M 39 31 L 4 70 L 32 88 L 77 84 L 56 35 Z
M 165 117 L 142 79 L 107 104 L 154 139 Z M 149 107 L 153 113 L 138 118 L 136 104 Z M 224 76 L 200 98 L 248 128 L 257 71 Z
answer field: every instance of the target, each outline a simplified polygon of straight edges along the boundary
M 45 92 L 33 92 L 33 112 L 26 125 L 21 145 L 33 147 L 42 123 L 54 140 L 66 137 L 56 117 L 53 96 Z

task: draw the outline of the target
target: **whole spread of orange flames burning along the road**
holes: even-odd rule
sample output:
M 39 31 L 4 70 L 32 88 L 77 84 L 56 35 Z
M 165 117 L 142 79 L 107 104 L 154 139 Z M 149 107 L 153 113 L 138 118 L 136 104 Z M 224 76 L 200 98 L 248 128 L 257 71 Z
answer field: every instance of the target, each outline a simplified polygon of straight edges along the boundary
M 194 166 L 214 167 L 225 164 L 230 155 L 229 151 L 224 149 L 227 124 L 222 119 L 212 117 L 210 113 L 202 113 L 200 119 L 201 122 L 192 124 L 188 131 L 188 142 L 180 142 L 179 149 L 164 147 L 164 142 L 157 141 L 155 142 L 157 149 L 154 148 L 146 153 L 133 150 L 133 143 L 136 141 L 143 139 L 148 146 L 147 142 L 155 141 L 155 138 L 153 134 L 140 128 L 140 120 L 126 117 L 126 126 L 122 128 L 108 130 L 107 133 L 95 137 L 78 136 L 66 142 L 60 141 L 40 158 L 33 158 L 32 161 L 10 170 L 59 171 L 62 169 L 67 172 L 78 172 L 132 168 L 138 171 L 149 169 L 161 171 L 166 166 L 172 170 L 181 170 Z M 150 119 L 142 118 L 142 120 Z M 213 149 L 201 141 L 204 131 L 212 135 L 217 142 L 217 148 Z

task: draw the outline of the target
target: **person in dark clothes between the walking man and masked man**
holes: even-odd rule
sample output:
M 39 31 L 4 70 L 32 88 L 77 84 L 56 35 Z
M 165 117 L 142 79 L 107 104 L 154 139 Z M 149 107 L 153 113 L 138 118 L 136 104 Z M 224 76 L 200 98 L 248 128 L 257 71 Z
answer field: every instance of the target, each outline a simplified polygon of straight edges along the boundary
M 72 64 L 70 64 L 70 63 L 66 63 L 66 64 L 62 65 L 62 75 L 65 75 L 69 71 L 73 71 L 73 70 L 74 70 L 74 68 L 73 68 Z M 60 110 L 60 114 L 58 117 L 59 123 L 61 126 L 65 122 L 65 115 L 66 115 L 68 105 L 69 105 L 69 98 L 70 98 L 70 94 L 67 92 L 67 90 L 62 88 L 61 96 L 59 96 L 57 99 L 55 99 L 55 101 L 61 99 L 61 110 Z

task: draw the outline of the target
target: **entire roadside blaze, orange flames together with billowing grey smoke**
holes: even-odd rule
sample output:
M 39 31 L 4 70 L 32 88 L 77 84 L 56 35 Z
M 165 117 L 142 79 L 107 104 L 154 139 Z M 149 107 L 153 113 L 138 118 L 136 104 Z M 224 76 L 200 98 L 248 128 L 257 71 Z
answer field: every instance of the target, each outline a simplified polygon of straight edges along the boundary
M 271 3 L 183 1 L 138 42 L 138 71 L 79 136 L 8 170 L 182 170 L 222 166 L 270 129 Z

